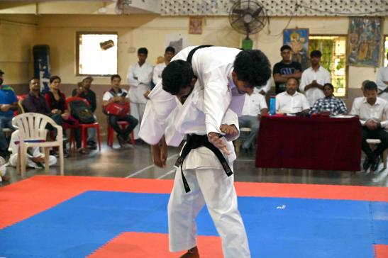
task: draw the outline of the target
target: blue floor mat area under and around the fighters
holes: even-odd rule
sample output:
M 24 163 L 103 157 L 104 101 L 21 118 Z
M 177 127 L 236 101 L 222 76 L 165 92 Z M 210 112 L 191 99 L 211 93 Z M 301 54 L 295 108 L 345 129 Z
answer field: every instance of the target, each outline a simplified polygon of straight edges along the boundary
M 121 232 L 167 234 L 168 194 L 87 191 L 0 230 L 0 257 L 85 257 Z M 374 257 L 388 203 L 239 197 L 252 257 Z M 199 235 L 217 235 L 204 208 Z M 167 247 L 166 247 L 167 248 Z

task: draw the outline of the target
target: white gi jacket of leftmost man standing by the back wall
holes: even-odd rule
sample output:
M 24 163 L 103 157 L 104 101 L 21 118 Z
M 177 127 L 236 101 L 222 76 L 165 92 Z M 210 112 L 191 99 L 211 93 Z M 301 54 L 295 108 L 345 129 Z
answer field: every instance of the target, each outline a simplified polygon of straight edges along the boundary
M 138 79 L 135 79 L 138 78 Z M 133 103 L 146 103 L 147 99 L 143 96 L 145 91 L 151 89 L 151 79 L 153 77 L 153 67 L 146 62 L 140 67 L 138 62 L 131 65 L 128 69 L 127 81 L 129 84 L 129 99 Z

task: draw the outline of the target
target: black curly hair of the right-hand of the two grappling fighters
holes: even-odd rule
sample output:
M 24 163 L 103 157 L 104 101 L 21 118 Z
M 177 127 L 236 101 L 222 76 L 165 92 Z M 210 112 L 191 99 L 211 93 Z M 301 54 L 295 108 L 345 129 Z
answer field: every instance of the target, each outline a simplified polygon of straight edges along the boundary
M 271 64 L 260 50 L 243 50 L 235 57 L 234 72 L 239 81 L 253 86 L 265 85 L 271 77 Z

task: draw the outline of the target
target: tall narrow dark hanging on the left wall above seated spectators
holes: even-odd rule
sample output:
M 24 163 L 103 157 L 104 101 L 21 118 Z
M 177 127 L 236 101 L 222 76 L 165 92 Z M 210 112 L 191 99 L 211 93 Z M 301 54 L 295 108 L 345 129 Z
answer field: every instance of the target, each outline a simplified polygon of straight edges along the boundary
M 40 92 L 50 90 L 50 47 L 48 45 L 33 46 L 33 69 L 34 77 L 40 79 Z

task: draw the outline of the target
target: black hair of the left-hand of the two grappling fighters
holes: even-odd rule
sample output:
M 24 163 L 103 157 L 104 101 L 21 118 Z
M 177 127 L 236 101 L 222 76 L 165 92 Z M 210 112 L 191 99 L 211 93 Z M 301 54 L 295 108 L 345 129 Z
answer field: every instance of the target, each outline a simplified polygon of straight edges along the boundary
M 181 89 L 189 86 L 193 78 L 194 72 L 189 62 L 172 61 L 162 72 L 163 89 L 172 95 L 177 95 Z

